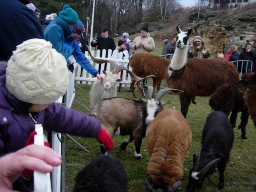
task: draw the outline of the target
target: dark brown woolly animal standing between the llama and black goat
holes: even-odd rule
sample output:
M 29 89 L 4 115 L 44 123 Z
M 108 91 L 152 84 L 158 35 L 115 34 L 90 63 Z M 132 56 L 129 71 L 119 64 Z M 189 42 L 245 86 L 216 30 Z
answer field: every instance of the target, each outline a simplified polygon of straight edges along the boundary
M 241 122 L 238 126 L 238 129 L 241 129 L 242 138 L 247 139 L 246 137 L 246 125 L 248 123 L 248 108 L 246 102 L 244 100 L 244 93 L 233 92 L 232 91 L 233 83 L 225 83 L 218 87 L 212 94 L 209 99 L 209 105 L 212 107 L 212 110 L 222 111 L 227 116 L 229 116 L 230 112 L 230 123 L 233 128 L 236 127 L 236 118 L 238 112 L 242 112 L 241 114 Z

